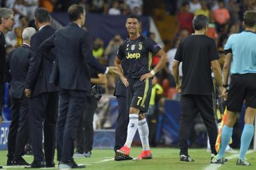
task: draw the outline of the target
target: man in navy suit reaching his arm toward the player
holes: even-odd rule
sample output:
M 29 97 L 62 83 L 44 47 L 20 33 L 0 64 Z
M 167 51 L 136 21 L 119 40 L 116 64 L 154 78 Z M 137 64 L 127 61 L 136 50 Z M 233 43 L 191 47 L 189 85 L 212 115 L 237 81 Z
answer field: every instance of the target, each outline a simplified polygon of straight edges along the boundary
M 90 90 L 90 68 L 99 73 L 116 74 L 115 67 L 105 67 L 93 57 L 89 33 L 81 26 L 85 21 L 83 6 L 74 4 L 67 14 L 71 23 L 45 40 L 37 50 L 37 55 L 55 47 L 56 60 L 55 84 L 60 88 L 59 116 L 57 119 L 57 160 L 61 161 L 59 169 L 78 168 L 72 156 L 74 154 L 74 139 L 79 119 L 84 107 L 86 94 Z M 30 91 L 25 89 L 26 95 Z

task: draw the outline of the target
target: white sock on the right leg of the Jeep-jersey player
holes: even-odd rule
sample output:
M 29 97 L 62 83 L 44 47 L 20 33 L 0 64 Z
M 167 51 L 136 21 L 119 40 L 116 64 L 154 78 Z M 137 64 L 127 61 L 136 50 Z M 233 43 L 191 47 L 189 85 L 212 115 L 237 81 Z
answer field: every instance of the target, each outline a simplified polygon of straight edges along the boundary
M 143 150 L 150 150 L 148 142 L 149 129 L 146 118 L 139 120 L 138 131 L 139 137 L 141 138 L 141 144 L 143 145 Z

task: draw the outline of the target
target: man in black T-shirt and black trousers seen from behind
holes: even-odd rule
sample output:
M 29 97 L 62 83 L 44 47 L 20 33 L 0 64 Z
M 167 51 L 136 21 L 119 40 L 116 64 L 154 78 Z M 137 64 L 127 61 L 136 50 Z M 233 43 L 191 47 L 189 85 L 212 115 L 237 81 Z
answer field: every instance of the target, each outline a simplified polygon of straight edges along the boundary
M 194 118 L 201 114 L 209 135 L 211 152 L 216 155 L 215 142 L 218 135 L 216 124 L 216 96 L 214 93 L 211 67 L 221 94 L 222 76 L 218 50 L 212 38 L 205 35 L 209 21 L 199 14 L 193 19 L 195 33 L 183 38 L 173 61 L 173 76 L 180 91 L 178 65 L 182 62 L 182 114 L 180 116 L 179 142 L 180 161 L 194 161 L 188 154 L 187 140 Z

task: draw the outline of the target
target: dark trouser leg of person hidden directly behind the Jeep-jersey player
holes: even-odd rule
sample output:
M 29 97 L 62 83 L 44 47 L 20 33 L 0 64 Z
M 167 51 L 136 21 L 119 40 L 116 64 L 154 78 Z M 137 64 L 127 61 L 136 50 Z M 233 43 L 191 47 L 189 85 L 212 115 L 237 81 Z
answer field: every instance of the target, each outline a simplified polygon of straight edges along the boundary
M 118 113 L 117 124 L 115 125 L 115 152 L 124 146 L 127 138 L 127 126 L 129 123 L 129 111 L 125 96 L 117 96 Z

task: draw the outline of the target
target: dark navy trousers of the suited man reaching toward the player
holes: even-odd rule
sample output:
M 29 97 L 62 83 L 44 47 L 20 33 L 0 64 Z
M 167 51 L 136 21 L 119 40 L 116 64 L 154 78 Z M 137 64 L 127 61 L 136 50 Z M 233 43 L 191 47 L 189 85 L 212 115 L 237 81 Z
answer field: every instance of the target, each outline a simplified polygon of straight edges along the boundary
M 57 119 L 57 161 L 71 161 L 74 139 L 84 109 L 86 91 L 61 89 Z

